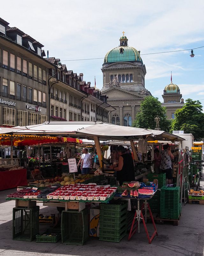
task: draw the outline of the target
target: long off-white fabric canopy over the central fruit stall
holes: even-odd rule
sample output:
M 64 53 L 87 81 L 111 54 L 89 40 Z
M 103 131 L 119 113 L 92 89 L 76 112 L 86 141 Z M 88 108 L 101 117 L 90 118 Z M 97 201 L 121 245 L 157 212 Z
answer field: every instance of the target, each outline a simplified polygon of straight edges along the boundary
M 130 141 L 139 138 L 148 140 L 171 140 L 181 141 L 183 138 L 164 131 L 149 130 L 135 127 L 119 126 L 103 122 L 45 122 L 24 127 L 11 128 L 14 134 L 35 134 L 52 136 L 71 136 L 80 139 L 93 140 L 98 137 L 100 140 Z

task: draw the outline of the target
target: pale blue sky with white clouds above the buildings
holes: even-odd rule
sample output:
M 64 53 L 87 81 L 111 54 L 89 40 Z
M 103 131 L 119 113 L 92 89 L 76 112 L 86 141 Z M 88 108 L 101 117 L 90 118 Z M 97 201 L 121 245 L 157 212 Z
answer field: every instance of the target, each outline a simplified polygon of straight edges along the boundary
M 197 0 L 36 0 L 1 3 L 1 18 L 32 36 L 49 57 L 60 58 L 68 70 L 84 73 L 99 89 L 106 52 L 119 45 L 122 31 L 128 44 L 141 51 L 145 87 L 163 101 L 164 87 L 177 84 L 184 99 L 204 105 L 204 1 Z M 17 15 L 18 14 L 18 15 Z

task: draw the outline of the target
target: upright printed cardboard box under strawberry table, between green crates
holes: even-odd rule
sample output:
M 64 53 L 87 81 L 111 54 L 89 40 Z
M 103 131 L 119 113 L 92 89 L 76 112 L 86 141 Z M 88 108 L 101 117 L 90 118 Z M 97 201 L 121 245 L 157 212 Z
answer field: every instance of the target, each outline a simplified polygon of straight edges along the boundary
M 90 232 L 89 236 L 99 237 L 99 218 L 100 209 L 99 207 L 94 207 L 90 209 Z

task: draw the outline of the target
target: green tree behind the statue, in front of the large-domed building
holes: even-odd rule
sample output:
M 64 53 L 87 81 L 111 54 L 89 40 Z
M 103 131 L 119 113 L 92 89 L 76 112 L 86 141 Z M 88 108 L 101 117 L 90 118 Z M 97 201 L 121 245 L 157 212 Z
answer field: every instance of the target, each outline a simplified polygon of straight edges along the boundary
M 162 107 L 158 98 L 147 96 L 140 105 L 140 112 L 135 116 L 133 127 L 155 129 L 155 117 L 159 116 L 159 127 L 162 131 L 168 132 L 171 126 L 171 120 L 166 119 L 166 108 Z

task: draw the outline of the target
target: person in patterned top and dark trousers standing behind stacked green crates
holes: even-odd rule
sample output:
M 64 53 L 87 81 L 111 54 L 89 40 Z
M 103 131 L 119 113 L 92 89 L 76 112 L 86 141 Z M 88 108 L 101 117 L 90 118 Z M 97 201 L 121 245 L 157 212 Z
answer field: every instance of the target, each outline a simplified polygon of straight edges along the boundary
M 162 172 L 166 173 L 166 178 L 168 179 L 168 184 L 172 184 L 172 167 L 171 167 L 171 159 L 174 159 L 174 156 L 171 153 L 169 144 L 165 144 L 163 146 L 163 150 L 161 152 L 161 165 L 160 169 Z

